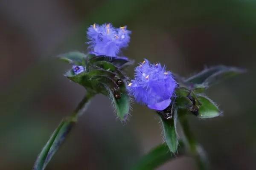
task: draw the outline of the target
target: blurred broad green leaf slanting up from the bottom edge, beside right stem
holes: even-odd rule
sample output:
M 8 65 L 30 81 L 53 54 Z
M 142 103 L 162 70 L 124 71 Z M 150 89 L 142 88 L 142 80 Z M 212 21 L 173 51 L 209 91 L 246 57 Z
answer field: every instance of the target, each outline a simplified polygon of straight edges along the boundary
M 178 150 L 179 156 L 185 153 L 183 142 L 179 142 Z M 149 153 L 140 158 L 139 161 L 130 170 L 154 170 L 160 165 L 163 165 L 167 161 L 176 158 L 173 153 L 170 152 L 166 143 L 160 144 L 153 148 Z

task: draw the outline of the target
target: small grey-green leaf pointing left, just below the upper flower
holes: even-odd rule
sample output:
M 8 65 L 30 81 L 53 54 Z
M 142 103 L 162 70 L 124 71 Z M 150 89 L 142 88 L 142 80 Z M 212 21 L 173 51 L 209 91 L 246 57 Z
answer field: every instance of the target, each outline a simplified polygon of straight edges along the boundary
M 79 51 L 72 51 L 69 53 L 59 55 L 60 59 L 70 64 L 84 65 L 87 55 Z

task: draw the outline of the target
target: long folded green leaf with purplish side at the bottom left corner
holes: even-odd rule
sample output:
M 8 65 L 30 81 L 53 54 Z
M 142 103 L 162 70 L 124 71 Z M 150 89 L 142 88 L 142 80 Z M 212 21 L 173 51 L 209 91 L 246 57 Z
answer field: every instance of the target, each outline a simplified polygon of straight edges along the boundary
M 43 147 L 41 153 L 39 153 L 33 170 L 44 170 L 49 161 L 52 159 L 54 153 L 61 146 L 62 142 L 66 138 L 67 134 L 73 127 L 75 120 L 71 117 L 70 119 L 64 119 L 60 125 L 54 130 L 52 136 L 48 140 L 47 144 Z

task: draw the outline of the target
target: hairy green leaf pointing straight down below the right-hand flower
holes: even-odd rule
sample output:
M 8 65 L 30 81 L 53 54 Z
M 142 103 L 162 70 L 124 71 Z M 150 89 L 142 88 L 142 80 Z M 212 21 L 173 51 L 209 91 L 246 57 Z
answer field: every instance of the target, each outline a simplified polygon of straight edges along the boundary
M 176 153 L 177 147 L 178 147 L 177 130 L 176 130 L 177 108 L 175 108 L 174 116 L 172 119 L 164 119 L 162 116 L 160 116 L 160 120 L 162 122 L 163 135 L 164 135 L 166 144 L 172 153 Z

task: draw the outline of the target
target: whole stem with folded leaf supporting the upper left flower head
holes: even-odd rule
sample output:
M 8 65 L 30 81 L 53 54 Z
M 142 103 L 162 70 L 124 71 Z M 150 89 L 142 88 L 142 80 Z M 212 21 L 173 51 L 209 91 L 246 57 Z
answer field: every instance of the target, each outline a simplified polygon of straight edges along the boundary
M 64 118 L 52 133 L 52 136 L 39 153 L 32 170 L 44 170 L 54 153 L 58 150 L 72 127 L 77 122 L 78 116 L 84 112 L 87 103 L 95 94 L 87 92 L 71 116 Z

